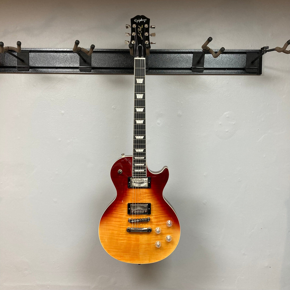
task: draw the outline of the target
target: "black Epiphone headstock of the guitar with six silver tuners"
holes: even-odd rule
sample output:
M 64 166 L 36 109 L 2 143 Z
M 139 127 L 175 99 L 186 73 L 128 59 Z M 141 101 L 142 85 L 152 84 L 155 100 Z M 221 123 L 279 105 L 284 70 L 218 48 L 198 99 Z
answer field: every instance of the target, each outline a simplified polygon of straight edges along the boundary
M 125 33 L 126 36 L 131 36 L 131 41 L 125 41 L 129 44 L 130 54 L 134 57 L 145 57 L 149 55 L 151 48 L 150 36 L 155 37 L 155 33 L 149 34 L 149 28 L 155 28 L 150 26 L 150 19 L 144 15 L 137 15 L 131 18 L 131 25 L 126 24 L 126 28 L 131 28 L 131 33 Z

